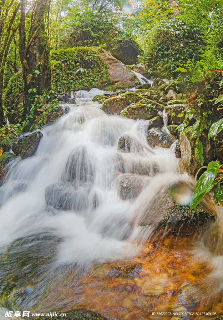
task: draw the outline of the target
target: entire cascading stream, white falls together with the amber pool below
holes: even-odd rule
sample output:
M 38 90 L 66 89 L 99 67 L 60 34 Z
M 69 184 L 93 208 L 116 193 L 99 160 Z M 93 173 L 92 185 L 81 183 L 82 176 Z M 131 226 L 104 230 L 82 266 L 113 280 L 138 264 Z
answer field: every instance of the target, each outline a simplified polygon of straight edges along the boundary
M 173 247 L 165 251 L 167 244 L 158 245 L 153 261 L 145 260 L 149 255 L 140 255 L 166 212 L 161 200 L 167 190 L 179 182 L 192 186 L 193 181 L 181 172 L 180 160 L 171 148 L 148 146 L 145 133 L 149 120 L 105 114 L 101 105 L 92 101 L 100 93 L 98 89 L 77 92 L 76 105 L 67 105 L 69 113 L 41 130 L 43 138 L 36 154 L 11 163 L 7 181 L 0 188 L 0 241 L 12 266 L 10 271 L 3 264 L 0 278 L 4 284 L 9 271 L 15 272 L 23 288 L 14 292 L 17 304 L 36 312 L 84 307 L 114 319 L 149 319 L 146 310 L 155 307 L 155 297 L 160 295 L 160 309 L 190 310 L 222 290 L 222 257 L 211 253 L 203 238 L 189 241 L 188 248 L 186 240 L 178 244 L 170 239 Z M 165 119 L 164 115 L 166 129 Z M 124 134 L 132 138 L 130 152 L 118 149 Z M 125 193 L 120 197 L 122 179 L 138 184 L 135 197 L 128 198 Z M 188 190 L 181 196 L 178 201 L 187 204 Z M 221 212 L 220 206 L 217 221 Z M 5 252 L 9 244 L 11 249 Z M 141 257 L 138 260 L 134 258 L 137 255 Z M 25 260 L 33 257 L 34 265 Z M 182 263 L 181 274 L 168 271 L 168 276 L 163 276 L 166 271 L 159 263 L 170 257 L 178 259 L 176 265 Z M 112 273 L 111 263 L 135 266 L 139 260 L 138 269 L 132 267 L 135 271 L 130 280 L 115 280 L 121 269 L 115 267 Z M 175 262 L 171 263 L 167 268 L 173 270 Z M 205 263 L 208 267 L 202 270 L 209 268 L 207 277 L 202 273 L 187 276 L 186 268 Z M 144 273 L 144 277 L 140 270 L 149 265 L 150 276 Z M 213 283 L 215 289 L 210 293 Z M 178 299 L 174 292 L 179 287 Z

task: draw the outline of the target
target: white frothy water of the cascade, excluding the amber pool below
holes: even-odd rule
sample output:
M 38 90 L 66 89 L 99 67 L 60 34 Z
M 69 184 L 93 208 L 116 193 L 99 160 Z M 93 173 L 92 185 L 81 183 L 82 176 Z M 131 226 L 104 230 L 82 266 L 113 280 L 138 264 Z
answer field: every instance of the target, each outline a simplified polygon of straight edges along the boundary
M 141 244 L 163 218 L 166 192 L 179 182 L 192 186 L 173 148 L 148 146 L 147 120 L 109 116 L 98 102 L 91 101 L 95 94 L 98 89 L 78 92 L 76 105 L 67 105 L 69 113 L 42 128 L 36 154 L 12 162 L 8 180 L 0 188 L 1 247 L 46 232 L 63 239 L 57 247 L 57 266 L 129 259 L 140 252 Z M 123 134 L 135 141 L 131 152 L 118 149 Z M 147 174 L 136 199 L 120 198 L 117 172 L 130 174 L 130 178 L 136 172 Z M 18 185 L 23 191 L 12 195 Z M 56 204 L 61 195 L 66 199 L 63 209 Z M 173 198 L 187 204 L 190 195 L 187 188 Z M 151 208 L 153 213 L 146 214 Z M 145 226 L 140 223 L 143 219 Z M 216 277 L 221 274 L 221 259 L 209 255 Z M 215 278 L 209 281 L 210 288 L 213 281 Z M 221 283 L 212 294 L 221 290 Z

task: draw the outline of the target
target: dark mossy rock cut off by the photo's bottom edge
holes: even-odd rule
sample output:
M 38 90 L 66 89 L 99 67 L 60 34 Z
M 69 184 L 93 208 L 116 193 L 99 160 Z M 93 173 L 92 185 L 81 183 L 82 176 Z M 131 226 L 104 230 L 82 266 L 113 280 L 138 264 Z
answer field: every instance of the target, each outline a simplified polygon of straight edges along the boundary
M 107 318 L 104 318 L 100 314 L 89 311 L 89 310 L 84 310 L 84 309 L 79 309 L 79 310 L 73 310 L 69 312 L 58 312 L 59 314 L 61 313 L 66 313 L 66 316 L 57 316 L 57 320 L 106 320 Z M 52 317 L 44 317 L 44 318 L 34 318 L 34 320 L 52 320 Z

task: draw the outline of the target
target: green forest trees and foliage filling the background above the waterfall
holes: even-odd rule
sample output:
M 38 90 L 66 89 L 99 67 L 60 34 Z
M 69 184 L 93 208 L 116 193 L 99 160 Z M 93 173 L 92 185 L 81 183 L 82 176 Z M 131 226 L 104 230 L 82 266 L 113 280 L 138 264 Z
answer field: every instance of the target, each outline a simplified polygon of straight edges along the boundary
M 0 124 L 26 124 L 39 95 L 49 102 L 62 91 L 107 83 L 107 65 L 88 50 L 98 46 L 125 64 L 144 63 L 152 77 L 188 95 L 178 130 L 193 123 L 202 166 L 202 132 L 214 140 L 223 129 L 222 30 L 218 0 L 3 0 Z M 218 173 L 205 190 L 219 181 Z

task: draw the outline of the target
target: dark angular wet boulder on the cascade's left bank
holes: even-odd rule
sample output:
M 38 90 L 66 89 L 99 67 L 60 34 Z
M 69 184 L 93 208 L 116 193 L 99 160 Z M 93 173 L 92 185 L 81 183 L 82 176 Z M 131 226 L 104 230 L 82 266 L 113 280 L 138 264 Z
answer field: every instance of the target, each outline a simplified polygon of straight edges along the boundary
M 12 151 L 16 156 L 21 156 L 23 159 L 28 158 L 36 152 L 42 136 L 40 131 L 21 135 L 13 142 Z

